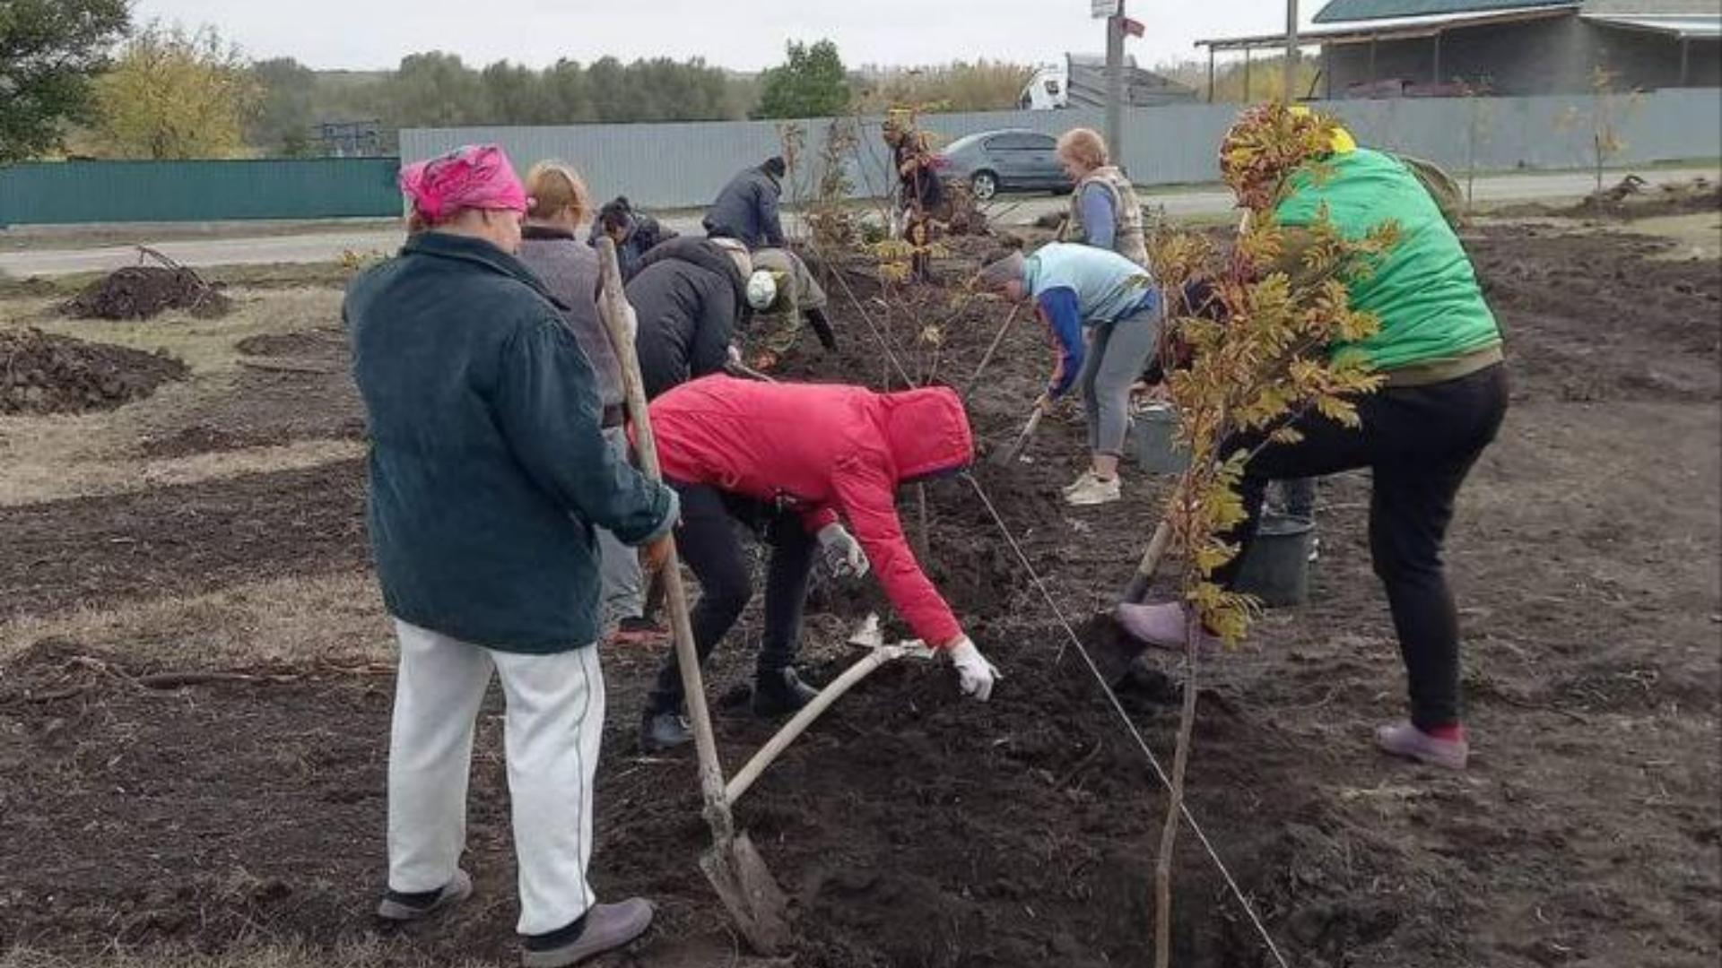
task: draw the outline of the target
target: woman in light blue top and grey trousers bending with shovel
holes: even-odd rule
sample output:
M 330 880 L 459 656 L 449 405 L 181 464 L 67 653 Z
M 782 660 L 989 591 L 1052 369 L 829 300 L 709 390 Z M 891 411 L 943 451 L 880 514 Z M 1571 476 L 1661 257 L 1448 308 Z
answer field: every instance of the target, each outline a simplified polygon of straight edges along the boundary
M 1119 500 L 1130 388 L 1159 343 L 1154 277 L 1116 251 L 1050 243 L 1026 257 L 1019 250 L 997 255 L 982 281 L 1013 301 L 1033 298 L 1052 336 L 1057 362 L 1037 406 L 1050 412 L 1073 388 L 1081 391 L 1092 458 L 1088 470 L 1064 487 L 1064 500 L 1076 506 Z

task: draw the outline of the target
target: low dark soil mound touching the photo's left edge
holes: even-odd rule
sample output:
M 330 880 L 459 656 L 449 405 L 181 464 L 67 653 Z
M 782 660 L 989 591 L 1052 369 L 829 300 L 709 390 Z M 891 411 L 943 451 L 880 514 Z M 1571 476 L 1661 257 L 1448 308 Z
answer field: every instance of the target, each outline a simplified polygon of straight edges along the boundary
M 188 372 L 165 353 L 84 343 L 40 329 L 0 332 L 0 413 L 114 410 Z

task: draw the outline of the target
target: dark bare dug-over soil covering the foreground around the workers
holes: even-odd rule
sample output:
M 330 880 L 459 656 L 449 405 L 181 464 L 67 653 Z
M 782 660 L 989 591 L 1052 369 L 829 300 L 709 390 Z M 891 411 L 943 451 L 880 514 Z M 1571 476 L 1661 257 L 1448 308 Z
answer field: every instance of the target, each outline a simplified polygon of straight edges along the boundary
M 1617 236 L 1491 231 L 1472 250 L 1515 370 L 1507 429 L 1462 496 L 1448 549 L 1474 768 L 1407 766 L 1369 744 L 1402 710 L 1403 673 L 1367 560 L 1367 477 L 1343 475 L 1322 486 L 1310 605 L 1271 613 L 1247 651 L 1205 673 L 1192 810 L 1298 966 L 1712 966 L 1722 267 L 1651 262 L 1655 243 Z M 940 350 L 902 319 L 875 322 L 911 369 L 937 357 L 964 382 L 1000 317 L 976 305 L 952 319 L 942 291 L 916 298 L 923 322 L 949 320 Z M 790 372 L 882 379 L 864 324 L 833 317 L 842 357 L 821 358 L 809 339 Z M 1031 324 L 1006 341 L 971 400 L 983 443 L 1014 429 L 1045 353 Z M 1133 477 L 1124 505 L 1073 512 L 1057 486 L 1080 460 L 1078 427 L 1052 422 L 1033 456 L 982 482 L 1061 608 L 1087 615 L 1130 568 L 1157 484 Z M 0 560 L 0 610 L 360 568 L 360 487 L 362 468 L 344 462 L 0 510 L 0 543 L 26 549 Z M 1142 968 L 1162 797 L 973 493 L 944 481 L 928 496 L 932 575 L 1006 679 L 976 706 L 937 668 L 885 670 L 749 794 L 742 823 L 799 901 L 792 963 Z M 816 589 L 815 679 L 835 675 L 849 656 L 837 639 L 871 601 Z M 720 698 L 756 634 L 749 615 L 718 653 Z M 46 641 L 0 672 L 0 949 L 370 939 L 389 679 L 270 665 L 251 672 L 291 677 L 162 691 L 138 677 L 167 660 L 129 660 L 126 646 L 117 632 Z M 656 656 L 604 660 L 594 877 L 604 894 L 661 903 L 653 939 L 608 965 L 728 963 L 692 865 L 704 837 L 692 765 L 641 758 L 630 741 Z M 198 665 L 188 653 L 176 668 Z M 1124 694 L 1157 749 L 1176 715 L 1164 672 Z M 474 770 L 479 894 L 444 925 L 387 939 L 381 965 L 510 963 L 498 711 L 480 723 Z M 725 711 L 720 734 L 739 758 L 768 729 Z M 1267 965 L 1183 842 L 1178 963 Z

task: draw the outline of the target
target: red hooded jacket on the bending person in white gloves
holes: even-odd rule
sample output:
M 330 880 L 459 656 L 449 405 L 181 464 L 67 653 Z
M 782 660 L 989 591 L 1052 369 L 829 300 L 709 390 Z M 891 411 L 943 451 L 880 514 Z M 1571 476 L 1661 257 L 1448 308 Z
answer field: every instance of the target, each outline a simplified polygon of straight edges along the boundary
M 840 515 L 916 637 L 942 646 L 963 634 L 897 520 L 899 484 L 959 470 L 975 456 L 956 391 L 711 375 L 654 400 L 651 422 L 665 477 L 794 501 L 809 532 Z

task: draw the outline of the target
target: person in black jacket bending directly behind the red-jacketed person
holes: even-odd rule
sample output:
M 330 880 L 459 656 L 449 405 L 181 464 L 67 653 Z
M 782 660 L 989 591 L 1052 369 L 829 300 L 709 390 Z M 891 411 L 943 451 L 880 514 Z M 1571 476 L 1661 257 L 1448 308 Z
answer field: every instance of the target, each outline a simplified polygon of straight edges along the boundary
M 753 262 L 735 239 L 684 236 L 646 253 L 627 295 L 647 398 L 723 370 L 747 317 L 749 274 Z

